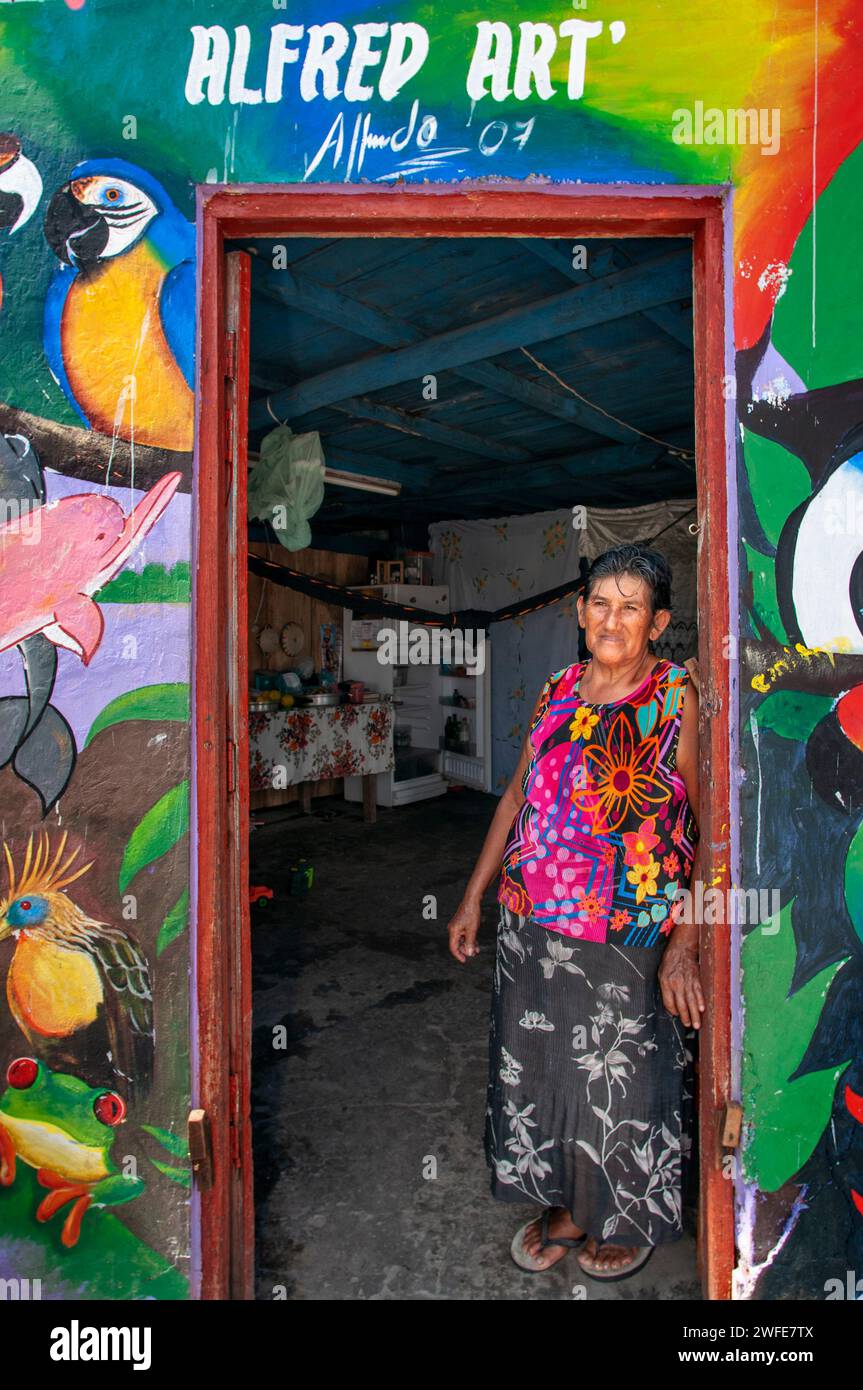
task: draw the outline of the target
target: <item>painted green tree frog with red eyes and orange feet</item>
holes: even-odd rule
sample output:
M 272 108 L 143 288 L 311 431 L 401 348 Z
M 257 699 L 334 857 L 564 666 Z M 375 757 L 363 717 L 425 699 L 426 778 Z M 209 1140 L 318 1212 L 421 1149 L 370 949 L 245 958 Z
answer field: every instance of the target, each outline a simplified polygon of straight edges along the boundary
M 0 1187 L 15 1180 L 15 1162 L 36 1169 L 47 1197 L 36 1220 L 49 1220 L 72 1204 L 63 1223 L 61 1241 L 71 1250 L 90 1207 L 117 1207 L 140 1197 L 140 1177 L 124 1177 L 111 1161 L 117 1125 L 125 1119 L 125 1101 L 114 1091 L 93 1090 L 76 1076 L 51 1072 L 42 1062 L 22 1056 L 6 1073 L 0 1097 Z

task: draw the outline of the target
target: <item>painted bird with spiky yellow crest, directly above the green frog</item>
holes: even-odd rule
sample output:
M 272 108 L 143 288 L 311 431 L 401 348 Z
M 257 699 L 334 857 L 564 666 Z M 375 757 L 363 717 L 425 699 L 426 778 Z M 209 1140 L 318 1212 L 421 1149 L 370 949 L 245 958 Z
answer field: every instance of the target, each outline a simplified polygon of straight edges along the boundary
M 79 849 L 65 853 L 64 833 L 51 859 L 47 834 L 31 835 L 15 874 L 4 844 L 8 892 L 0 903 L 0 941 L 15 937 L 6 992 L 18 1027 L 32 1047 L 49 1049 L 97 1023 L 107 1029 L 111 1066 L 131 1087 L 149 1090 L 153 1076 L 153 994 L 140 947 L 125 931 L 88 917 L 64 891 L 92 867 L 75 867 Z M 79 1034 L 83 1037 L 79 1038 Z M 89 1056 L 69 1058 L 81 1070 Z

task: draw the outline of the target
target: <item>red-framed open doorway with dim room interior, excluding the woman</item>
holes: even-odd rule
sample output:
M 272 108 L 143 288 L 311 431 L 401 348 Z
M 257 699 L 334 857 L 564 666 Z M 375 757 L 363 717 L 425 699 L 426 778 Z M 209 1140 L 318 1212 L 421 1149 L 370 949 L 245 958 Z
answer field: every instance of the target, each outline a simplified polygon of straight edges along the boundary
M 586 655 L 554 591 L 616 541 L 671 560 L 656 655 L 699 657 L 700 830 L 728 834 L 721 202 L 232 190 L 202 227 L 202 1291 L 518 1297 L 479 1138 L 491 962 L 459 970 L 445 929 L 542 682 Z M 249 456 L 278 481 L 279 450 L 322 456 L 322 502 L 247 502 Z M 500 617 L 479 660 L 411 657 L 466 610 Z M 727 1297 L 732 1265 L 728 972 L 703 938 L 664 1276 L 691 1295 Z

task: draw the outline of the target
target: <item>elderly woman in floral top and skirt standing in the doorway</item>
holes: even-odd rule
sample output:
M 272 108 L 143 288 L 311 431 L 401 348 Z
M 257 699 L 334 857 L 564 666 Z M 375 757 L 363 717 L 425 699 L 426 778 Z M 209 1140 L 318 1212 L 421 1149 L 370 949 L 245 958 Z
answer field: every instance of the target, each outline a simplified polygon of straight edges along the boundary
M 698 694 L 652 652 L 670 619 L 661 555 L 593 562 L 578 599 L 591 657 L 542 687 L 449 923 L 454 958 L 475 956 L 499 874 L 485 1154 L 495 1197 L 545 1208 L 513 1238 L 531 1272 L 574 1247 L 592 1279 L 627 1279 L 682 1230 L 684 1030 L 705 997 L 681 912 Z

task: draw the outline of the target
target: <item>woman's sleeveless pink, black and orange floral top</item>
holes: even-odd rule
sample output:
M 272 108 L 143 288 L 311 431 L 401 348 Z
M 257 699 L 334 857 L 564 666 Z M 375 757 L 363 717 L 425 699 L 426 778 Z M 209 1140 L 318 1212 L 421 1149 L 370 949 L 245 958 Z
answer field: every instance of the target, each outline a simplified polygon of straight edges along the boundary
M 541 691 L 498 901 L 563 935 L 652 947 L 699 834 L 677 771 L 689 673 L 660 660 L 631 695 L 592 705 L 578 695 L 585 666 Z

